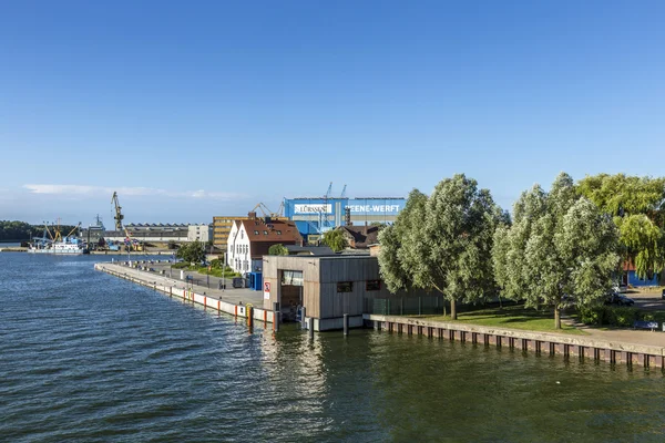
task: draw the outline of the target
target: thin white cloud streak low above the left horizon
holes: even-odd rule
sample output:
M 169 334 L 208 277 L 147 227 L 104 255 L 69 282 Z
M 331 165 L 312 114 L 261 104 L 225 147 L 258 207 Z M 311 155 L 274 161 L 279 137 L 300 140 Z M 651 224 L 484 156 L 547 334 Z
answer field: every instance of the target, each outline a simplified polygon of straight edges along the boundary
M 23 185 L 31 194 L 61 195 L 65 197 L 72 196 L 102 196 L 108 195 L 109 198 L 113 192 L 117 192 L 120 196 L 164 196 L 172 198 L 208 198 L 219 200 L 236 200 L 246 198 L 246 196 L 236 193 L 206 192 L 205 189 L 197 190 L 166 190 L 152 187 L 104 187 L 104 186 L 82 186 L 82 185 L 52 185 L 52 184 L 28 184 Z

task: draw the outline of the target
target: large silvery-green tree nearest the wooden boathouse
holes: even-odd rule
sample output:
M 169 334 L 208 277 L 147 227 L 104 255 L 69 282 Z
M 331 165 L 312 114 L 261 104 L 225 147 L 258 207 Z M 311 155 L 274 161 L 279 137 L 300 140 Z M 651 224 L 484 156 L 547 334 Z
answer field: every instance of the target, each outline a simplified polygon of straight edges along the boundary
M 491 248 L 501 218 L 490 192 L 463 174 L 440 182 L 429 198 L 412 192 L 395 226 L 379 236 L 388 289 L 439 291 L 457 319 L 458 301 L 482 299 L 494 287 Z

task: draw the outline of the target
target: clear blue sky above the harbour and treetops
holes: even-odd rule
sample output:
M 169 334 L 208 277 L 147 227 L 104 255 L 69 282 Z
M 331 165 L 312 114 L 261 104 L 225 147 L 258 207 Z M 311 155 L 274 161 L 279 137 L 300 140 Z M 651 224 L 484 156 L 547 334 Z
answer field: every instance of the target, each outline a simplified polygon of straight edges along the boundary
M 663 175 L 665 3 L 0 3 L 0 219 Z

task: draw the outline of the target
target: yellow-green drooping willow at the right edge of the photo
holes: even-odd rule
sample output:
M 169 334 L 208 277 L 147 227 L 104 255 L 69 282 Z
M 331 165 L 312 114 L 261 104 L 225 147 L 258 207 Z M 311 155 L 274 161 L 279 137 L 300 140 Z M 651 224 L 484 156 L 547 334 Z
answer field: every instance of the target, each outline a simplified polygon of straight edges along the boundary
M 622 256 L 638 277 L 665 268 L 665 178 L 600 174 L 580 181 L 579 189 L 620 230 Z

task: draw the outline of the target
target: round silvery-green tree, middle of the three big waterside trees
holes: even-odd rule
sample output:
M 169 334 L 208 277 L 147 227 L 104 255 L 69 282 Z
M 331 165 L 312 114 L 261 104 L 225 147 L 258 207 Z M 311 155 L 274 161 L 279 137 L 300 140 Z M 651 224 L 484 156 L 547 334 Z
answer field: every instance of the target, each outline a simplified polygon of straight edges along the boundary
M 591 306 L 611 288 L 618 231 L 607 215 L 577 196 L 563 173 L 550 193 L 538 185 L 523 193 L 513 213 L 512 226 L 494 234 L 497 282 L 508 298 L 552 309 L 559 329 L 566 296 Z

